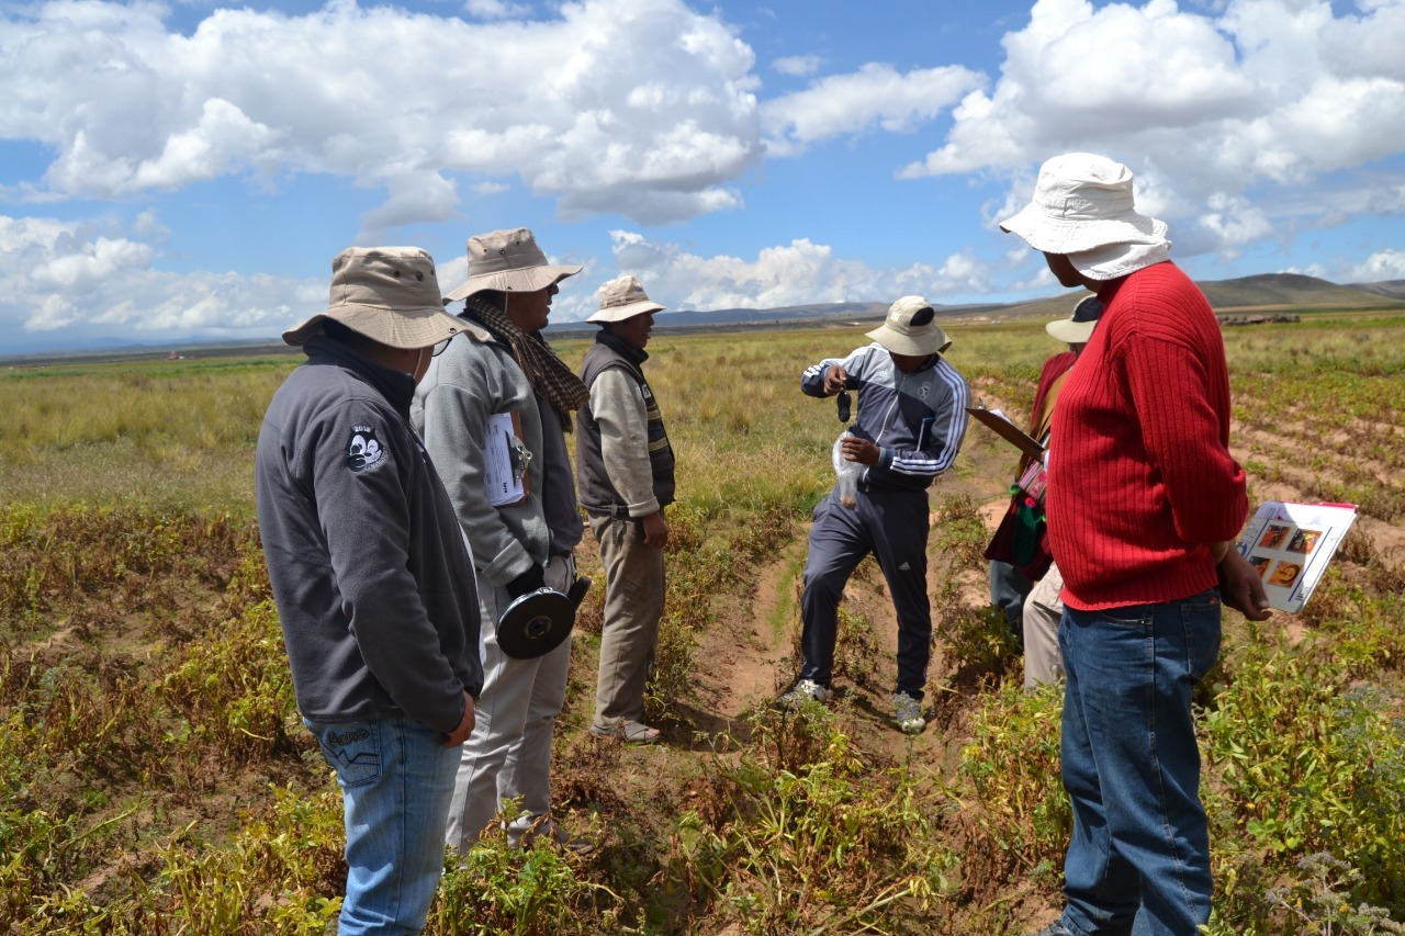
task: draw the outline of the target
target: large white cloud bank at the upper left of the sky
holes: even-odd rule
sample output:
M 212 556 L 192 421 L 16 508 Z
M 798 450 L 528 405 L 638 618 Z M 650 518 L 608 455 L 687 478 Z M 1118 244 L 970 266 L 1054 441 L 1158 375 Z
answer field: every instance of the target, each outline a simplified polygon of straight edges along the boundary
M 56 156 L 13 195 L 115 198 L 229 174 L 326 173 L 388 191 L 368 238 L 452 211 L 455 173 L 517 176 L 568 216 L 645 223 L 740 204 L 760 159 L 754 56 L 683 0 L 583 0 L 486 21 L 332 0 L 216 10 L 52 0 L 0 21 L 0 136 Z M 542 67 L 542 63 L 551 67 Z M 438 205 L 447 198 L 447 205 Z

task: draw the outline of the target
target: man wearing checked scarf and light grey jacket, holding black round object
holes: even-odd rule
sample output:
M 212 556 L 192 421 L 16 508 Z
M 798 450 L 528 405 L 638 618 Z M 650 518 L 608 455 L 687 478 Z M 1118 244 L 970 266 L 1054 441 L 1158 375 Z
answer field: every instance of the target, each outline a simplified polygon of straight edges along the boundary
M 450 808 L 448 845 L 466 850 L 509 800 L 510 842 L 549 835 L 576 850 L 551 818 L 551 745 L 566 701 L 570 639 L 542 656 L 517 659 L 497 642 L 496 621 L 513 600 L 576 578 L 573 551 L 584 524 L 563 430 L 584 402 L 584 385 L 540 332 L 556 282 L 580 271 L 547 263 L 531 232 L 493 230 L 468 242 L 464 299 L 468 334 L 434 358 L 412 409 L 478 564 L 483 631 L 483 696 L 464 745 Z M 523 495 L 495 505 L 485 486 L 490 416 L 510 413 L 527 458 Z M 509 810 L 511 811 L 511 810 Z

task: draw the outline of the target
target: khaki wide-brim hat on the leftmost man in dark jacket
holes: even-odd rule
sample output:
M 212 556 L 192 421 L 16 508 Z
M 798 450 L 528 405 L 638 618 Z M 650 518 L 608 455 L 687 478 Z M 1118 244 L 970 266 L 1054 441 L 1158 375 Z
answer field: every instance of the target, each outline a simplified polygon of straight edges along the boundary
M 347 247 L 332 261 L 325 312 L 282 333 L 292 346 L 333 319 L 372 342 L 417 350 L 447 342 L 464 322 L 444 311 L 434 259 L 420 247 Z

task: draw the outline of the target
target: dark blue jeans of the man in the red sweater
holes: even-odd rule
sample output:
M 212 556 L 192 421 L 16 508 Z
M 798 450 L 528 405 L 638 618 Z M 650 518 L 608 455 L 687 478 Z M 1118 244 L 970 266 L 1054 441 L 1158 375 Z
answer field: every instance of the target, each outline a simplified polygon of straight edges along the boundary
M 1064 609 L 1062 923 L 1076 936 L 1193 936 L 1210 919 L 1210 829 L 1190 696 L 1220 655 L 1220 596 Z

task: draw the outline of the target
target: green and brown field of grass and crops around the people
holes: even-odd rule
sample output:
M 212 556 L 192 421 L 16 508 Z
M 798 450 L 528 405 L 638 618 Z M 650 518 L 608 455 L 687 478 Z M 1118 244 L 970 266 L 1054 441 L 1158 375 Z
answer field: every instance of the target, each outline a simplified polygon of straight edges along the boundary
M 1041 323 L 954 322 L 975 396 L 1024 415 Z M 1059 905 L 1069 811 L 1057 691 L 1020 690 L 985 604 L 1013 458 L 972 426 L 932 490 L 932 724 L 887 724 L 894 621 L 860 566 L 830 708 L 794 670 L 833 403 L 801 370 L 863 343 L 805 327 L 669 334 L 651 382 L 679 454 L 656 748 L 586 731 L 601 589 L 558 722 L 558 814 L 600 847 L 448 859 L 429 932 L 1017 935 Z M 1225 330 L 1250 498 L 1361 519 L 1307 611 L 1227 613 L 1198 696 L 1208 932 L 1405 932 L 1405 318 L 1315 311 Z M 577 364 L 584 342 L 558 350 Z M 253 521 L 253 447 L 299 358 L 0 372 L 0 929 L 322 933 L 340 800 L 298 724 Z M 582 566 L 599 575 L 589 535 Z

